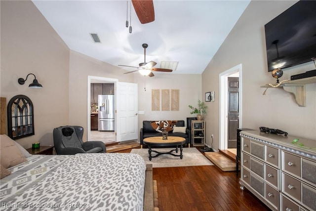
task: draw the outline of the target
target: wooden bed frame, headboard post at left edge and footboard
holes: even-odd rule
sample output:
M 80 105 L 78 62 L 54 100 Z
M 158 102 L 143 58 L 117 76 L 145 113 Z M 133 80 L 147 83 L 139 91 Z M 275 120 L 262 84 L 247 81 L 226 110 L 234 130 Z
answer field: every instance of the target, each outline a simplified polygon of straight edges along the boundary
M 6 98 L 0 98 L 0 134 L 6 134 Z M 144 211 L 154 211 L 153 165 L 146 165 Z

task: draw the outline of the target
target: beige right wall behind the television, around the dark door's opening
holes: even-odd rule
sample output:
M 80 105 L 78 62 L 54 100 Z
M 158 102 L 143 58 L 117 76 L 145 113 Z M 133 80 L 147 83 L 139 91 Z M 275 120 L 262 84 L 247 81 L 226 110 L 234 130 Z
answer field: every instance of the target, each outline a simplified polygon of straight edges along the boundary
M 202 74 L 202 93 L 215 91 L 216 100 L 208 103 L 206 134 L 214 134 L 214 149 L 219 147 L 219 74 L 242 64 L 242 126 L 279 128 L 289 134 L 316 139 L 316 84 L 306 85 L 306 107 L 299 107 L 292 94 L 260 85 L 276 83 L 267 71 L 264 25 L 296 1 L 251 1 L 237 24 Z M 315 69 L 312 63 L 289 68 L 280 81 L 297 72 Z M 210 139 L 206 138 L 210 143 Z

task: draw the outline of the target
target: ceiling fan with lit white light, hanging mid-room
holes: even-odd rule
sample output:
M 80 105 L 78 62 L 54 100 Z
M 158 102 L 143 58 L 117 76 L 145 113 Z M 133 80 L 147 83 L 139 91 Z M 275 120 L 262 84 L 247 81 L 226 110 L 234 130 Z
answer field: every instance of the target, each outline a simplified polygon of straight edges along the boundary
M 142 46 L 144 48 L 144 57 L 145 58 L 144 58 L 144 62 L 143 63 L 139 63 L 139 67 L 128 66 L 128 65 L 120 65 L 120 64 L 118 66 L 137 68 L 137 70 L 134 70 L 134 71 L 131 71 L 131 72 L 127 72 L 127 73 L 133 73 L 133 72 L 138 71 L 143 76 L 149 76 L 149 77 L 155 76 L 152 71 L 172 72 L 171 69 L 154 68 L 154 66 L 157 64 L 157 62 L 150 61 L 150 62 L 146 63 L 146 48 L 148 47 L 148 44 L 144 43 L 144 44 L 142 44 Z M 124 74 L 127 74 L 127 73 L 124 73 Z

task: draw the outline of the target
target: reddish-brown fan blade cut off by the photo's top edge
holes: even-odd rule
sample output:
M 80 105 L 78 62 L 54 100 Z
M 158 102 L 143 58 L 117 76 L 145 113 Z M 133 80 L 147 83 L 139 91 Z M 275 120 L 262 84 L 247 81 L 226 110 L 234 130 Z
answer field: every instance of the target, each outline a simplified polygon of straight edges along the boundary
M 142 24 L 155 20 L 155 10 L 153 0 L 132 0 L 135 12 Z

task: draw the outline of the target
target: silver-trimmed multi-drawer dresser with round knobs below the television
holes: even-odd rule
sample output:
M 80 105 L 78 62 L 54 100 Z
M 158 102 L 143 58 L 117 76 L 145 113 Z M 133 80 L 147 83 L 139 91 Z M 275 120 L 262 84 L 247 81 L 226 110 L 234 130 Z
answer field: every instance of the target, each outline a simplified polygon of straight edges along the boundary
M 240 138 L 241 190 L 275 211 L 316 211 L 316 140 L 259 130 Z

